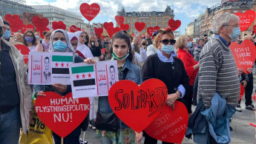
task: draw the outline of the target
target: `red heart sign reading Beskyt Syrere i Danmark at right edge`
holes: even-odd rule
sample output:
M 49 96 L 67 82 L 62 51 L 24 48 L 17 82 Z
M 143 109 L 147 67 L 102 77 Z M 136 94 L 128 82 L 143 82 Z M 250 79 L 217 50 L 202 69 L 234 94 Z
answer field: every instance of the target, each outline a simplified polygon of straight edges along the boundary
M 247 69 L 255 64 L 255 44 L 247 39 L 241 45 L 232 42 L 229 47 L 232 50 L 237 68 L 242 68 L 243 72 L 248 74 Z

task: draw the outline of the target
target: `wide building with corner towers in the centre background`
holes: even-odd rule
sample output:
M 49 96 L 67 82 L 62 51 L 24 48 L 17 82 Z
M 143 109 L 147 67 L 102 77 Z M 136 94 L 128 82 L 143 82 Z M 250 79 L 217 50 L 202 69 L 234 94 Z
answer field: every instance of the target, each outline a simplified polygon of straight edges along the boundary
M 125 18 L 124 24 L 129 24 L 128 33 L 134 33 L 137 30 L 134 27 L 135 22 L 145 22 L 145 28 L 140 32 L 146 33 L 148 27 L 159 26 L 160 28 L 168 27 L 168 20 L 174 18 L 174 10 L 167 6 L 164 12 L 125 12 L 125 7 L 117 12 L 118 16 Z M 118 25 L 117 25 L 118 27 Z

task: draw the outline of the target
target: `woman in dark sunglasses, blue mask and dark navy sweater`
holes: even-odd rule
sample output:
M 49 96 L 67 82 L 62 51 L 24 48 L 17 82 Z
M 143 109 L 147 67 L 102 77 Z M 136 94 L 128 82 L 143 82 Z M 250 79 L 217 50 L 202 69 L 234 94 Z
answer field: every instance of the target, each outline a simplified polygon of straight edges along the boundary
M 157 53 L 148 56 L 142 67 L 142 80 L 157 78 L 162 80 L 168 89 L 167 104 L 174 106 L 175 100 L 184 97 L 188 89 L 188 75 L 183 62 L 176 58 L 174 52 L 174 34 L 169 27 L 159 30 L 159 34 L 154 38 L 154 47 Z M 145 136 L 146 144 L 155 144 L 157 140 L 148 134 Z M 163 142 L 163 144 L 167 144 Z

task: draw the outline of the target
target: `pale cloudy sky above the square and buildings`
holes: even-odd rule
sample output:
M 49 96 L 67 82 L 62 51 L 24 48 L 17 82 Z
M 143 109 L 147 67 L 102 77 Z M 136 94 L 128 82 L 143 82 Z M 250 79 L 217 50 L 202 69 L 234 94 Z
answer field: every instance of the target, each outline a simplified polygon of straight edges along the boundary
M 93 22 L 104 23 L 105 21 L 112 21 L 115 25 L 114 16 L 117 11 L 125 7 L 125 12 L 132 11 L 164 11 L 167 5 L 174 10 L 174 20 L 180 19 L 182 34 L 185 34 L 186 25 L 193 21 L 200 13 L 205 13 L 206 7 L 212 7 L 221 0 L 26 0 L 27 5 L 45 5 L 49 4 L 64 10 L 72 11 L 81 15 L 79 6 L 82 3 L 97 3 L 100 6 L 99 15 L 94 18 Z M 81 15 L 82 16 L 82 15 Z M 88 21 L 83 18 L 85 23 Z

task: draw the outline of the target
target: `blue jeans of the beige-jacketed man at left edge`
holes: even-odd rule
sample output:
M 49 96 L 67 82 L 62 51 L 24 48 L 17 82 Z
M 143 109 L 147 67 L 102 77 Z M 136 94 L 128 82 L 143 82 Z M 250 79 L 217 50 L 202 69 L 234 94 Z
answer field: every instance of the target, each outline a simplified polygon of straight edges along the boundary
M 19 143 L 19 131 L 22 126 L 19 106 L 16 106 L 10 112 L 0 113 L 0 144 Z

